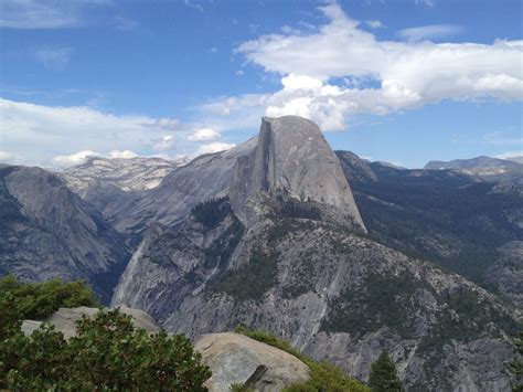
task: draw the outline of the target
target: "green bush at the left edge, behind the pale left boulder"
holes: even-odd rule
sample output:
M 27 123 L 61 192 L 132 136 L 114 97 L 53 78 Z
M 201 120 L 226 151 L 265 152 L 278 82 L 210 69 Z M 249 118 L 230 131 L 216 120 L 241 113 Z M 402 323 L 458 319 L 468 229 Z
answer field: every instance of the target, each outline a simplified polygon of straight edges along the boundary
M 11 311 L 22 320 L 43 319 L 58 308 L 99 305 L 90 287 L 83 280 L 64 283 L 51 279 L 44 283 L 21 283 L 13 276 L 0 279 L 0 301 L 3 304 L 2 308 L 12 309 Z

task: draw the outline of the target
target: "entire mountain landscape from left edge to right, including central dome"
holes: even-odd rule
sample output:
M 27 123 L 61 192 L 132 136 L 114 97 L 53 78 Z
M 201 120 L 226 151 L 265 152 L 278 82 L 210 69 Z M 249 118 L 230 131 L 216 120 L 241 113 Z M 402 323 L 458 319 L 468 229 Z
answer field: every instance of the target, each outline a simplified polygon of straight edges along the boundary
M 508 391 L 523 186 L 498 161 L 369 162 L 286 116 L 184 165 L 3 166 L 0 273 L 83 277 L 191 337 L 267 329 L 362 380 L 387 348 L 409 391 Z

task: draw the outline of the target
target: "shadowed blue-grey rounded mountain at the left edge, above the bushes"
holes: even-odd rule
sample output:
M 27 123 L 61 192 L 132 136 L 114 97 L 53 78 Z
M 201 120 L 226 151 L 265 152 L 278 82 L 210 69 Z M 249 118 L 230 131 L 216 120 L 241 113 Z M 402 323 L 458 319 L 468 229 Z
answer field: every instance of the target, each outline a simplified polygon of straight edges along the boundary
M 0 167 L 0 275 L 86 279 L 108 301 L 127 264 L 122 237 L 53 173 Z

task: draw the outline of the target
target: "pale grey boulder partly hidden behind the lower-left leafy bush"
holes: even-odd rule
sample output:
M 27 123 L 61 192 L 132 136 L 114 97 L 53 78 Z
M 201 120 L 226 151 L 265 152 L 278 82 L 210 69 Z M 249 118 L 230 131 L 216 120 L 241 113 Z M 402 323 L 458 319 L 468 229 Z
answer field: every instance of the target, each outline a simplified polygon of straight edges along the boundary
M 64 333 L 65 339 L 68 339 L 76 335 L 76 321 L 81 320 L 82 316 L 86 315 L 92 317 L 98 311 L 98 308 L 88 308 L 86 306 L 79 306 L 77 308 L 60 308 L 43 321 L 24 320 L 22 324 L 22 331 L 25 335 L 31 335 L 35 329 L 39 329 L 43 322 L 49 322 L 53 325 L 57 331 Z M 136 328 L 145 329 L 149 333 L 154 333 L 160 330 L 154 320 L 142 310 L 121 306 L 120 311 L 125 315 L 131 316 L 132 324 Z

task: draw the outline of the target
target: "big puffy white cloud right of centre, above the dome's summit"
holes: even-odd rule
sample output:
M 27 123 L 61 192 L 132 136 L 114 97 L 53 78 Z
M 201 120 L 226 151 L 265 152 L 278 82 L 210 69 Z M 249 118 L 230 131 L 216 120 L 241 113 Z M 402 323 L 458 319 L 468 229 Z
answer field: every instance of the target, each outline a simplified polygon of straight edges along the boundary
M 385 115 L 444 99 L 523 98 L 523 41 L 382 41 L 337 3 L 319 10 L 329 21 L 309 34 L 262 35 L 236 49 L 247 62 L 280 75 L 280 91 L 220 98 L 203 110 L 228 118 L 300 115 L 339 130 L 356 114 Z M 429 30 L 417 36 L 428 38 Z M 449 30 L 439 27 L 439 33 Z M 340 78 L 350 83 L 339 85 Z

